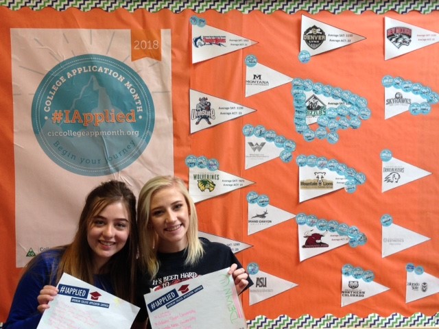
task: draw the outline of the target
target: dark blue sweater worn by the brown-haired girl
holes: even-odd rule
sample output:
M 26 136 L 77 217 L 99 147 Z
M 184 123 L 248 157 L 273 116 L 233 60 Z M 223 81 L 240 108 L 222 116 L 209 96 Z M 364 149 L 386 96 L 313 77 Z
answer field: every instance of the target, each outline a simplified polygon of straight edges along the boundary
M 14 299 L 8 319 L 3 328 L 5 329 L 36 329 L 40 322 L 42 313 L 36 309 L 40 290 L 47 284 L 56 286 L 56 271 L 64 249 L 49 249 L 36 256 L 35 263 L 21 278 L 16 288 Z M 95 286 L 99 289 L 114 292 L 104 287 L 112 287 L 109 276 L 98 276 L 95 278 Z

